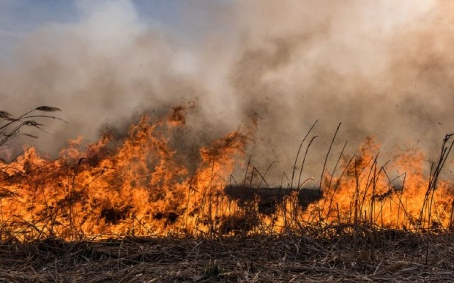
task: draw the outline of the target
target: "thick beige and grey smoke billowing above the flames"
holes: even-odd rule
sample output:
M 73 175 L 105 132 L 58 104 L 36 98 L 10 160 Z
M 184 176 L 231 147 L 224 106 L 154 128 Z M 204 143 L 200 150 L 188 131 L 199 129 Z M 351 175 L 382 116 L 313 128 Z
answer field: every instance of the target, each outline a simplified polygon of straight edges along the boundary
M 36 142 L 43 152 L 192 101 L 187 125 L 201 139 L 256 119 L 248 152 L 262 168 L 280 161 L 276 172 L 317 119 L 318 165 L 341 121 L 333 155 L 376 135 L 385 156 L 405 145 L 435 157 L 454 130 L 448 1 L 195 1 L 173 28 L 143 21 L 131 1 L 76 3 L 76 22 L 37 28 L 0 62 L 3 108 L 64 110 L 69 124 Z

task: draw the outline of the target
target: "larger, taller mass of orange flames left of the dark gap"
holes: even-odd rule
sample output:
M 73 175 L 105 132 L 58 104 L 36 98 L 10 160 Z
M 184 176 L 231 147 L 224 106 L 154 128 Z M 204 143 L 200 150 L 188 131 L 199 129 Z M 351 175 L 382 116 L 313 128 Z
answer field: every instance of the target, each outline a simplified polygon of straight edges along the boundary
M 225 210 L 216 198 L 225 186 L 217 175 L 231 173 L 247 137 L 236 131 L 201 148 L 192 174 L 168 144 L 168 133 L 177 126 L 175 119 L 150 123 L 145 116 L 119 149 L 109 148 L 111 137 L 104 135 L 85 149 L 82 138 L 72 140 L 56 160 L 27 150 L 2 166 L 2 187 L 14 192 L 0 203 L 5 233 L 25 240 L 205 231 L 205 213 L 225 211 L 198 209 L 209 200 Z

